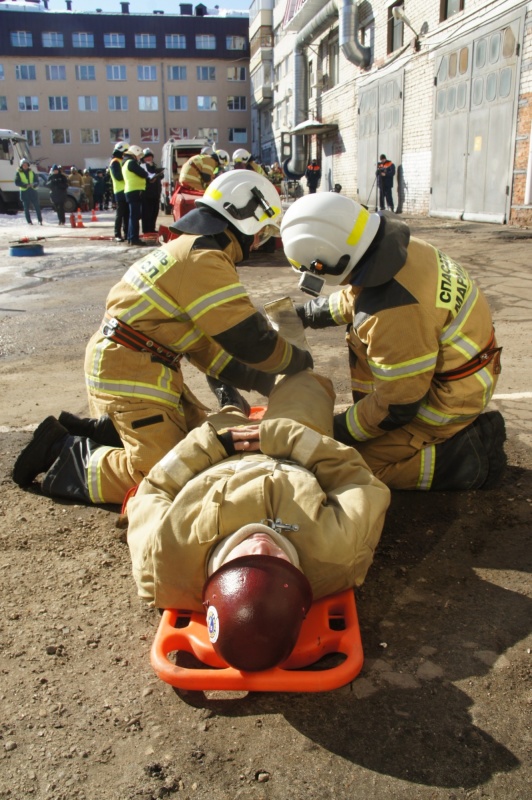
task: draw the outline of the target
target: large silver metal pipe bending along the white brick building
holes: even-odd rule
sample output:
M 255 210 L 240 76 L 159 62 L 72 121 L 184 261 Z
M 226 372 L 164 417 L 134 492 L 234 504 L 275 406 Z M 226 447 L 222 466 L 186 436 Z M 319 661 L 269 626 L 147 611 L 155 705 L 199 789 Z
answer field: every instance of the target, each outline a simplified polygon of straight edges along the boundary
M 313 20 L 298 33 L 294 47 L 294 118 L 292 127 L 304 122 L 308 116 L 308 65 L 306 48 L 332 19 L 339 17 L 339 45 L 352 64 L 366 68 L 371 60 L 371 48 L 364 47 L 359 39 L 358 0 L 330 0 Z M 292 137 L 292 157 L 283 164 L 288 178 L 301 178 L 306 169 L 304 136 Z

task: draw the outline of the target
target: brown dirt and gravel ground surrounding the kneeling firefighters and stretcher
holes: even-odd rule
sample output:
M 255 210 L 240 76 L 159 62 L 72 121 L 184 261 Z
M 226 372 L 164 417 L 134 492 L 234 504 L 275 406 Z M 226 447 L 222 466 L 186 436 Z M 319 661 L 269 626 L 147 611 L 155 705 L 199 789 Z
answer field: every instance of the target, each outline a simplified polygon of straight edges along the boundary
M 493 401 L 507 421 L 503 485 L 394 494 L 357 592 L 365 664 L 351 685 L 235 697 L 178 694 L 154 675 L 159 618 L 136 596 L 116 508 L 54 502 L 10 479 L 41 419 L 85 413 L 85 343 L 132 260 L 89 238 L 111 235 L 110 213 L 64 233 L 53 220 L 0 217 L 0 798 L 528 800 L 532 232 L 408 220 L 490 299 L 504 345 Z M 47 237 L 44 255 L 11 257 L 28 231 Z M 258 305 L 300 298 L 280 252 L 240 272 Z M 346 405 L 342 332 L 309 339 Z M 187 379 L 212 405 L 203 377 Z

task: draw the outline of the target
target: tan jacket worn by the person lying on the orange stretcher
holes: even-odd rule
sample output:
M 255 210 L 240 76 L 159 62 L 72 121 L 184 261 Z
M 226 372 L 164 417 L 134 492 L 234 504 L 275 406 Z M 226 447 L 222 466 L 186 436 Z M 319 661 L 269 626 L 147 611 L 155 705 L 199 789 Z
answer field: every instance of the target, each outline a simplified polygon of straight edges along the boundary
M 228 458 L 206 422 L 141 483 L 128 504 L 128 544 L 149 604 L 201 611 L 210 549 L 266 518 L 299 525 L 283 534 L 315 599 L 364 581 L 389 490 L 356 450 L 292 420 L 264 420 L 260 440 L 262 454 Z

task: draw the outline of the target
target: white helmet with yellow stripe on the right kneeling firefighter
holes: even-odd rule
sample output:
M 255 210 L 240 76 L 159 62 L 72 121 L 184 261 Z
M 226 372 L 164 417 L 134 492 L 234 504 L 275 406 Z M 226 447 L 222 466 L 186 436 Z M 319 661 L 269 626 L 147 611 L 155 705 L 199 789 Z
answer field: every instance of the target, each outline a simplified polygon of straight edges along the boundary
M 319 294 L 323 283 L 342 283 L 377 235 L 380 222 L 379 214 L 341 194 L 322 192 L 296 200 L 281 225 L 284 252 L 296 272 L 319 276 L 307 277 L 305 283 L 304 275 L 300 288 Z

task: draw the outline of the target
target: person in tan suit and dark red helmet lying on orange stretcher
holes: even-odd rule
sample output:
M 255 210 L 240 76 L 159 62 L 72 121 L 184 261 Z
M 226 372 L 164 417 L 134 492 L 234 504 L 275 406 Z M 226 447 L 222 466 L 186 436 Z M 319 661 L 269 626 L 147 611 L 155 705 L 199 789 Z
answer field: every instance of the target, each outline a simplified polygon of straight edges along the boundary
M 140 597 L 157 608 L 206 604 L 215 649 L 240 669 L 286 657 L 310 598 L 360 585 L 373 560 L 390 492 L 331 438 L 333 407 L 327 378 L 287 376 L 259 425 L 231 407 L 209 416 L 128 502 Z

